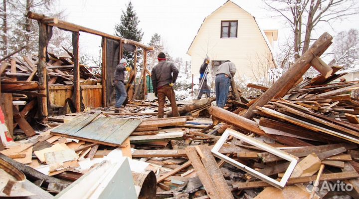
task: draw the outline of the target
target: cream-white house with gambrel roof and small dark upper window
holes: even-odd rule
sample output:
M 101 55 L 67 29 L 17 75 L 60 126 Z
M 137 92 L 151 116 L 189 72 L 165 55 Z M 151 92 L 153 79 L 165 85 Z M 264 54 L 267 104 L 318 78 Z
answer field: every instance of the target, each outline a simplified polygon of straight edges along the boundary
M 254 16 L 228 0 L 204 18 L 187 54 L 191 56 L 191 70 L 199 74 L 203 59 L 208 56 L 213 66 L 225 60 L 235 63 L 235 78 L 250 78 L 253 83 L 265 83 L 268 70 L 276 66 L 271 45 L 278 30 L 262 31 Z

